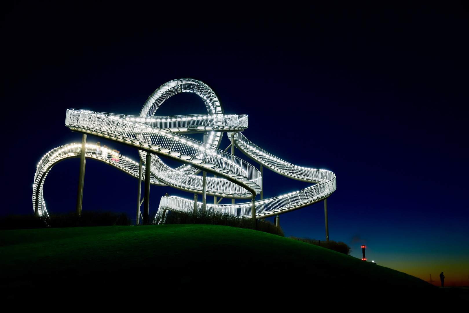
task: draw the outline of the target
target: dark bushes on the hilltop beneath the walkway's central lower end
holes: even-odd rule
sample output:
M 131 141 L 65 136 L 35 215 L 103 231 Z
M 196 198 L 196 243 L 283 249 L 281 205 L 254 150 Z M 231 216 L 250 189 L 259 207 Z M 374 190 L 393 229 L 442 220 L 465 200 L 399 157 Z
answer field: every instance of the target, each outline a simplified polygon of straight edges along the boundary
M 161 216 L 159 216 L 161 218 Z M 156 219 L 155 219 L 156 220 Z M 155 220 L 153 224 L 155 224 Z M 207 210 L 205 214 L 169 211 L 166 215 L 165 224 L 208 224 L 224 225 L 239 228 L 253 229 L 252 219 L 246 217 L 235 217 L 217 211 Z M 270 221 L 257 220 L 257 230 L 284 237 L 283 230 L 276 227 Z

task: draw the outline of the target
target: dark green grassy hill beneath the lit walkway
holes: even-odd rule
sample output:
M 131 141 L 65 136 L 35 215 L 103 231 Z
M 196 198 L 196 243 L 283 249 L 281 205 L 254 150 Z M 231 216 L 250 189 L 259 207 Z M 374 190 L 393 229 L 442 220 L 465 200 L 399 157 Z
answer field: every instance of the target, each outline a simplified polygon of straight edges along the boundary
M 285 292 L 321 299 L 446 297 L 437 287 L 387 267 L 226 226 L 2 230 L 0 255 L 0 291 L 9 298 L 80 290 L 130 299 L 136 288 L 258 299 Z

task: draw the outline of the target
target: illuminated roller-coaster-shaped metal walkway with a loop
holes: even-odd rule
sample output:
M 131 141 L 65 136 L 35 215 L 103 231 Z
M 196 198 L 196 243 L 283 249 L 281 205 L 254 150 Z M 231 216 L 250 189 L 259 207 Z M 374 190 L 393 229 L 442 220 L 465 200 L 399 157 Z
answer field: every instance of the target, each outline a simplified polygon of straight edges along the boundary
M 207 114 L 154 116 L 166 99 L 180 92 L 195 92 L 204 101 Z M 140 115 L 68 109 L 65 125 L 75 132 L 134 147 L 138 149 L 140 160 L 144 162 L 147 160 L 147 153 L 151 153 L 150 184 L 171 186 L 203 195 L 203 202 L 197 204 L 197 198 L 195 201 L 174 196 L 162 197 L 157 214 L 153 217 L 155 223 L 164 222 L 168 210 L 192 212 L 196 206 L 197 210 L 213 210 L 239 217 L 266 218 L 310 206 L 326 199 L 336 190 L 336 176 L 333 172 L 296 166 L 268 153 L 244 137 L 241 132 L 248 128 L 248 115 L 225 114 L 215 92 L 207 84 L 196 79 L 175 79 L 161 85 L 146 100 Z M 219 149 L 225 132 L 231 141 L 232 153 Z M 204 133 L 204 142 L 184 136 L 194 133 Z M 83 147 L 85 158 L 104 162 L 139 178 L 141 163 L 115 151 L 83 143 L 59 146 L 46 153 L 37 165 L 32 195 L 36 215 L 48 215 L 43 186 L 50 169 L 62 160 L 81 157 Z M 234 156 L 234 147 L 257 162 L 260 170 Z M 182 163 L 182 166 L 170 168 L 160 159 L 161 156 L 176 160 Z M 255 200 L 256 195 L 262 191 L 263 167 L 314 185 L 277 197 L 261 197 L 260 200 Z M 140 177 L 145 181 L 143 168 L 145 167 L 142 166 Z M 197 175 L 201 171 L 211 173 L 214 177 L 208 177 L 205 173 L 203 176 Z M 219 205 L 215 198 L 214 204 L 206 204 L 207 195 L 246 199 L 248 202 Z M 163 212 L 166 212 L 165 216 Z

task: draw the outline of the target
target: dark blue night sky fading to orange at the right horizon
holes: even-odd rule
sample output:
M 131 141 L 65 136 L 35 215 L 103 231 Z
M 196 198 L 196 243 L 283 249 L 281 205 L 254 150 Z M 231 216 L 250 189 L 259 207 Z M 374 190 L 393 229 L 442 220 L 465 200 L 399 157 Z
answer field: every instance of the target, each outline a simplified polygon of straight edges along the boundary
M 443 271 L 447 284 L 469 285 L 463 2 L 232 5 L 4 5 L 0 214 L 33 214 L 38 161 L 81 142 L 64 126 L 67 108 L 138 115 L 160 85 L 192 77 L 213 88 L 225 113 L 249 115 L 243 134 L 253 143 L 337 175 L 328 199 L 331 240 L 359 258 L 366 244 L 368 260 L 424 280 Z M 197 95 L 183 93 L 156 115 L 204 112 Z M 135 149 L 88 136 L 96 141 L 138 160 Z M 225 135 L 220 148 L 227 145 Z M 51 170 L 49 212 L 75 210 L 78 169 L 73 159 Z M 265 198 L 310 186 L 268 169 L 264 180 Z M 87 160 L 83 210 L 135 218 L 136 191 L 135 178 Z M 150 212 L 166 192 L 193 198 L 151 186 Z M 286 236 L 325 240 L 323 203 L 280 215 L 280 225 Z

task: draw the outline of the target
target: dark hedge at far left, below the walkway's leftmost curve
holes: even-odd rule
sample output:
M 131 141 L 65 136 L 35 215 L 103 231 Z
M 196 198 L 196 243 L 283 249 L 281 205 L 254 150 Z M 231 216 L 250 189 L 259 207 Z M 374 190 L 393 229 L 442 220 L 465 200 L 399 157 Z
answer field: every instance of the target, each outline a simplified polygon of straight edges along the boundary
M 69 214 L 51 214 L 47 217 L 34 215 L 8 215 L 0 220 L 0 229 L 31 229 L 48 227 L 113 226 L 130 225 L 127 213 L 117 214 L 110 211 L 83 211 L 81 216 L 75 212 Z

